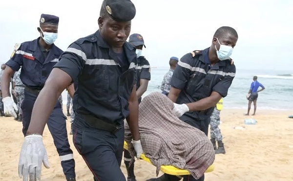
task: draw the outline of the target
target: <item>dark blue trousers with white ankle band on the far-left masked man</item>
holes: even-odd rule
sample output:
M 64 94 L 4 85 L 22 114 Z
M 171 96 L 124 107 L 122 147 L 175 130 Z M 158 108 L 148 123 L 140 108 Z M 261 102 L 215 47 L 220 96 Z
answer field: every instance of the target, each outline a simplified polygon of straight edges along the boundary
M 24 91 L 24 99 L 21 104 L 22 109 L 22 133 L 25 136 L 28 129 L 32 110 L 36 102 L 37 95 Z M 73 152 L 70 149 L 70 145 L 67 137 L 66 130 L 66 117 L 61 110 L 61 104 L 57 101 L 55 108 L 53 109 L 47 126 L 53 137 L 54 145 L 57 148 L 57 152 L 60 156 L 61 166 L 66 179 L 75 178 L 75 162 L 73 159 Z

